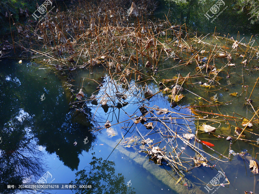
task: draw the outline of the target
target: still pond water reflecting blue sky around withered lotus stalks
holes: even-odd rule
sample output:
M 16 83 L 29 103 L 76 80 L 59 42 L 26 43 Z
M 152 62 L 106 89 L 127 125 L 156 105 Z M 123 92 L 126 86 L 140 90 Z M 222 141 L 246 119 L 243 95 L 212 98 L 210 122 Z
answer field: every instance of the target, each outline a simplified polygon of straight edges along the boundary
M 246 39 L 250 39 L 249 35 Z M 174 41 L 170 40 L 172 44 Z M 78 178 L 76 172 L 91 169 L 89 163 L 95 153 L 96 158 L 115 162 L 115 172 L 111 174 L 121 173 L 125 178 L 123 184 L 130 185 L 136 193 L 258 193 L 258 174 L 251 172 L 249 162 L 255 160 L 259 152 L 259 118 L 255 114 L 259 107 L 256 83 L 259 56 L 255 50 L 247 50 L 242 45 L 237 52 L 233 51 L 230 39 L 208 36 L 202 41 L 204 44 L 192 39 L 190 44 L 203 59 L 201 67 L 213 49 L 215 53 L 231 53 L 231 63 L 227 57 L 214 57 L 208 65 L 214 66 L 212 70 L 216 68 L 216 74 L 206 68 L 199 69 L 192 52 L 182 47 L 177 49 L 176 55 L 184 62 L 163 53 L 166 60 L 158 62 L 158 71 L 153 74 L 152 70 L 147 72 L 148 68 L 144 68 L 146 60 L 139 60 L 141 72 L 148 79 L 136 81 L 138 75 L 132 71 L 123 83 L 120 75 L 112 73 L 112 79 L 110 72 L 101 65 L 91 71 L 76 69 L 67 76 L 69 72 L 56 72 L 37 60 L 23 60 L 19 64 L 16 59 L 1 58 L 1 183 L 36 183 L 48 172 L 51 177 L 47 183 L 69 185 Z M 242 43 L 247 44 L 247 41 Z M 258 46 L 258 43 L 254 41 L 252 46 Z M 183 65 L 191 58 L 192 63 Z M 248 64 L 242 64 L 245 59 Z M 80 60 L 79 63 L 83 63 Z M 183 91 L 179 93 L 184 97 L 170 106 L 170 94 L 159 92 L 158 83 L 163 82 L 163 89 L 171 90 L 173 77 L 182 85 Z M 96 92 L 99 83 L 102 87 Z M 147 88 L 157 94 L 146 98 Z M 78 93 L 79 89 L 84 93 L 80 102 L 74 100 L 72 94 L 73 91 Z M 128 98 L 119 101 L 114 97 L 116 91 L 127 93 Z M 89 100 L 93 93 L 98 103 Z M 102 97 L 108 100 L 106 106 L 100 105 Z M 247 104 L 247 99 L 252 101 Z M 167 114 L 157 114 L 163 108 L 168 109 Z M 153 122 L 152 129 L 134 123 L 143 115 L 146 122 Z M 235 141 L 235 127 L 243 128 L 243 118 L 250 120 L 253 116 L 253 126 L 246 128 L 245 137 L 240 137 L 243 140 Z M 110 128 L 104 127 L 107 120 L 111 122 Z M 202 124 L 215 127 L 216 132 L 197 131 Z M 188 141 L 183 138 L 186 133 L 214 146 L 193 139 Z M 226 141 L 228 136 L 233 140 Z M 148 143 L 142 145 L 142 139 Z M 176 174 L 170 165 L 160 166 L 157 160 L 150 160 L 145 152 L 140 152 L 150 149 L 153 144 L 161 149 L 159 151 L 170 153 L 175 167 L 182 171 Z M 229 154 L 229 150 L 234 154 Z M 235 155 L 241 152 L 243 157 Z M 195 167 L 193 158 L 197 158 L 198 153 L 207 160 L 208 166 Z M 258 161 L 258 157 L 256 159 Z M 110 169 L 105 165 L 100 168 L 107 172 Z M 220 172 L 221 179 L 217 176 Z M 181 175 L 184 178 L 179 180 Z M 220 182 L 216 183 L 215 177 Z M 111 178 L 106 182 L 103 180 L 102 184 L 111 183 L 108 181 Z M 206 187 L 211 183 L 216 186 Z M 221 183 L 224 186 L 220 186 Z M 120 185 L 115 184 L 114 188 L 120 189 Z M 8 189 L 2 192 L 12 193 Z M 72 193 L 71 190 L 48 192 Z

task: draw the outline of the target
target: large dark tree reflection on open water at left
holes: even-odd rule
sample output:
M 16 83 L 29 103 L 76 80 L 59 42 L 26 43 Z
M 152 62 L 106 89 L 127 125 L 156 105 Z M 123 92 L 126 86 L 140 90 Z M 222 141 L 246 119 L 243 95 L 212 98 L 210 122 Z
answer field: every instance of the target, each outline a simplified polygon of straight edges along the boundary
M 69 109 L 60 80 L 31 63 L 2 59 L 0 72 L 0 183 L 35 183 L 47 171 L 44 152 L 56 153 L 72 170 L 95 137 L 85 110 Z M 11 65 L 9 65 L 11 64 Z M 46 82 L 46 79 L 48 80 Z M 45 93 L 45 100 L 40 96 Z M 89 142 L 83 140 L 88 137 Z M 77 141 L 77 145 L 74 142 Z M 0 193 L 17 193 L 1 190 Z

